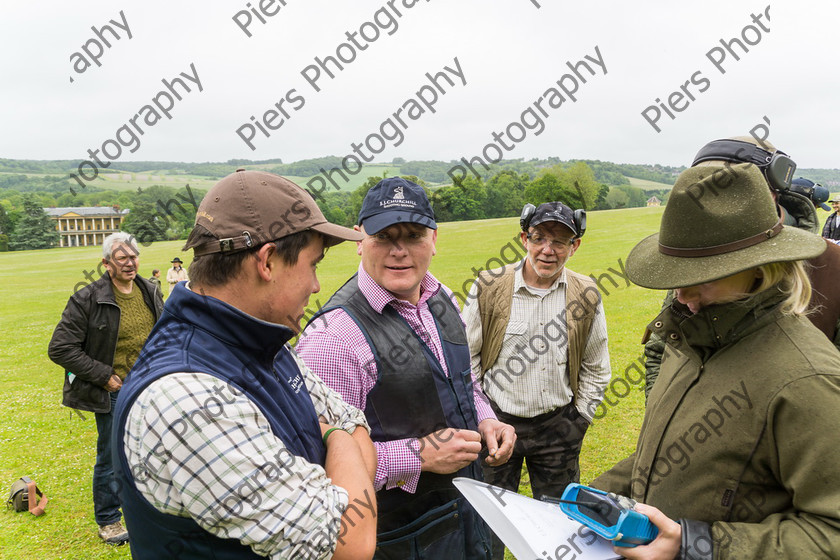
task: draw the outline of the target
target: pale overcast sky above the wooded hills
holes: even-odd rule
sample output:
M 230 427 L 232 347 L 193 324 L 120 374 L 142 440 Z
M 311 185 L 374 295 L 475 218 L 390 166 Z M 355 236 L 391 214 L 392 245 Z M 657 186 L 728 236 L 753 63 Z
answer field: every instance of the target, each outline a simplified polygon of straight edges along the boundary
M 285 1 L 251 0 L 254 10 L 276 11 L 262 16 L 265 23 L 245 1 L 7 4 L 0 20 L 0 157 L 81 162 L 103 144 L 116 161 L 344 156 L 401 109 L 404 126 L 392 122 L 404 140 L 394 146 L 383 138 L 376 161 L 471 158 L 497 132 L 505 158 L 686 165 L 707 141 L 748 134 L 766 117 L 770 141 L 800 167 L 840 167 L 840 8 L 833 2 L 416 0 L 409 8 L 415 0 Z M 130 39 L 110 23 L 123 25 L 123 17 Z M 111 46 L 100 55 L 89 42 L 97 39 L 91 27 L 106 24 L 120 39 L 105 31 Z M 721 45 L 733 38 L 749 52 Z M 340 72 L 330 65 L 335 78 L 322 70 L 310 84 L 304 69 L 337 49 L 355 59 Z M 579 81 L 573 102 L 557 81 L 574 89 L 574 80 L 563 79 L 573 76 L 566 63 L 587 55 L 606 73 L 591 62 L 595 75 L 579 66 L 587 82 Z M 446 66 L 460 66 L 466 85 Z M 153 99 L 167 91 L 161 80 L 193 75 L 192 68 L 203 91 L 190 80 L 189 93 L 176 85 L 182 99 L 174 100 L 171 119 L 154 122 L 143 108 L 154 108 Z M 429 84 L 426 73 L 441 71 L 454 85 L 440 81 L 445 94 L 438 91 L 432 113 L 418 92 Z M 686 82 L 682 94 L 671 95 Z M 564 102 L 548 99 L 551 87 Z M 421 93 L 431 97 L 430 88 Z M 681 109 L 669 108 L 673 119 L 656 108 L 657 98 L 667 107 L 669 96 Z M 289 116 L 269 113 L 270 130 L 265 113 L 284 98 Z M 157 100 L 167 105 L 166 95 Z M 647 114 L 660 114 L 660 132 L 642 115 L 651 105 Z M 537 115 L 544 121 L 539 135 Z M 520 125 L 509 128 L 514 122 Z M 391 130 L 386 125 L 394 136 Z M 376 137 L 370 142 L 381 149 Z

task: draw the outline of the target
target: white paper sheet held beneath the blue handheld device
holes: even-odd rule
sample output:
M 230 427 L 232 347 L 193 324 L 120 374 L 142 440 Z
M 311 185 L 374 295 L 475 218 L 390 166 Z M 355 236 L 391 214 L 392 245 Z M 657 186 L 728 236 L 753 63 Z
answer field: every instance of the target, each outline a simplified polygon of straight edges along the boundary
M 556 504 L 469 478 L 455 479 L 517 560 L 612 560 L 612 543 L 566 517 Z

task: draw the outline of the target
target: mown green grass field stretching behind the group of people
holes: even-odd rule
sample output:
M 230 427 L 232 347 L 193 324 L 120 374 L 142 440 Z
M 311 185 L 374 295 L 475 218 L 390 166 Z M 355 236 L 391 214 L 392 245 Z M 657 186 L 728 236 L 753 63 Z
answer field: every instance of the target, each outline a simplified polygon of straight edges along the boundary
M 570 267 L 601 276 L 610 336 L 613 376 L 621 376 L 641 354 L 644 326 L 658 311 L 662 294 L 627 283 L 622 272 L 632 246 L 658 229 L 661 208 L 591 212 L 589 229 Z M 432 272 L 454 291 L 464 293 L 472 267 L 484 268 L 517 233 L 514 218 L 440 225 Z M 181 255 L 183 242 L 155 243 L 141 252 L 140 271 L 165 271 Z M 503 249 L 506 251 L 502 253 Z M 29 475 L 50 497 L 47 514 L 0 513 L 0 558 L 130 558 L 128 547 L 102 544 L 96 535 L 91 503 L 91 474 L 96 425 L 89 413 L 61 406 L 63 371 L 47 358 L 47 344 L 67 298 L 85 282 L 85 271 L 99 261 L 97 247 L 0 253 L 0 380 L 5 406 L 0 410 L 0 484 Z M 330 250 L 319 267 L 322 290 L 310 305 L 324 303 L 358 266 L 352 244 Z M 496 266 L 490 262 L 490 266 Z M 94 273 L 95 274 L 95 273 Z M 165 274 L 165 273 L 164 273 Z M 82 284 L 80 284 L 82 283 Z M 641 385 L 595 422 L 584 441 L 583 481 L 592 480 L 628 455 L 641 425 Z

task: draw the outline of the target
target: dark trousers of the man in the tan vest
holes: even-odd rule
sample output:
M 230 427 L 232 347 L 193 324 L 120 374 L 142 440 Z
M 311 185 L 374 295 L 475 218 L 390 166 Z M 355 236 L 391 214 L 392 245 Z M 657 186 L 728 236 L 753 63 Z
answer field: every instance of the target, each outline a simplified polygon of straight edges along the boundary
M 522 462 L 528 466 L 528 476 L 534 499 L 543 496 L 559 498 L 572 482 L 580 481 L 580 447 L 589 427 L 574 403 L 533 418 L 506 414 L 490 403 L 501 422 L 516 428 L 513 455 L 498 467 L 482 463 L 484 482 L 513 492 L 519 491 Z M 493 559 L 505 556 L 501 540 L 493 535 Z

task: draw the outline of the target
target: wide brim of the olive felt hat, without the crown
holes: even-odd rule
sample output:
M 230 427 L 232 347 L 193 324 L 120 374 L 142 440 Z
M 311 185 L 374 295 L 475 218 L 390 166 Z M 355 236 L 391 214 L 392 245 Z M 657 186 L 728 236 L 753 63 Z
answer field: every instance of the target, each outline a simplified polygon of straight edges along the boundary
M 674 257 L 659 252 L 659 234 L 640 241 L 627 256 L 627 277 L 654 290 L 695 286 L 772 262 L 812 259 L 827 248 L 822 237 L 785 227 L 752 247 L 709 257 Z

